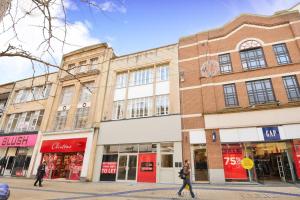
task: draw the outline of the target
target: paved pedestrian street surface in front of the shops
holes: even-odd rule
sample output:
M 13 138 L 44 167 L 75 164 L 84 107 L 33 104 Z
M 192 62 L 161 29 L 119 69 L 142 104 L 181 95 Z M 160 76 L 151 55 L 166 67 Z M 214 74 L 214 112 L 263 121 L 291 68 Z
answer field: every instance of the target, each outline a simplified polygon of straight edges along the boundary
M 192 199 L 184 190 L 177 196 L 178 184 L 44 181 L 34 187 L 33 179 L 0 177 L 10 186 L 9 200 L 96 200 L 96 199 Z M 195 199 L 201 200 L 300 200 L 300 187 L 295 184 L 193 184 Z

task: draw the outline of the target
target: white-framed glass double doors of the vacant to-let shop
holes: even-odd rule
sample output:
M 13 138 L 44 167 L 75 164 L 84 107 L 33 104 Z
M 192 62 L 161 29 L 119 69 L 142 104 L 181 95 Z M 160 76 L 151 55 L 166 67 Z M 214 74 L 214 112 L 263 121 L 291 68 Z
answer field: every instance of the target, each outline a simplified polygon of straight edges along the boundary
M 137 154 L 120 154 L 118 161 L 118 181 L 136 181 Z

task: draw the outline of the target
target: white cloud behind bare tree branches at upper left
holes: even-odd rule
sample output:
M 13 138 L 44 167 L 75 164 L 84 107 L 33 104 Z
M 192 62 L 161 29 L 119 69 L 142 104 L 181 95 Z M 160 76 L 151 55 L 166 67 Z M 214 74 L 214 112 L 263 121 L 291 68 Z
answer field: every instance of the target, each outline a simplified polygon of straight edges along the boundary
M 57 1 L 56 3 L 59 3 Z M 65 7 L 68 10 L 76 10 L 78 9 L 75 4 L 71 1 L 64 1 Z M 16 6 L 16 1 L 13 1 L 12 7 Z M 22 0 L 18 1 L 18 9 L 17 9 L 17 18 L 24 14 L 24 11 L 28 11 L 32 8 L 33 4 L 31 0 Z M 14 10 L 14 9 L 12 9 Z M 56 27 L 54 29 L 54 35 L 60 39 L 64 38 L 64 31 L 62 28 L 64 27 L 64 22 L 61 20 L 63 15 L 63 10 L 60 5 L 55 4 L 51 7 L 51 12 L 56 19 L 53 19 L 52 23 Z M 38 13 L 34 12 L 32 15 L 27 16 L 22 19 L 16 26 L 16 31 L 19 36 L 19 40 L 16 38 L 12 39 L 14 35 L 13 30 L 9 30 L 5 33 L 2 32 L 2 27 L 8 27 L 11 24 L 11 19 L 9 17 L 5 17 L 3 21 L 0 23 L 0 51 L 7 48 L 8 44 L 12 44 L 14 46 L 22 46 L 24 49 L 30 51 L 33 55 L 40 56 L 42 51 L 45 49 L 46 45 L 39 46 L 43 41 L 43 32 L 40 26 L 43 24 L 44 18 Z M 70 52 L 72 50 L 78 49 L 83 46 L 88 46 L 91 44 L 99 43 L 99 39 L 91 36 L 92 26 L 88 21 L 76 21 L 72 23 L 68 23 L 67 26 L 67 35 L 66 42 L 72 45 L 65 45 L 62 49 L 62 43 L 58 40 L 52 40 L 52 49 L 51 51 L 53 58 L 50 55 L 43 55 L 43 58 L 59 64 L 61 56 L 63 53 Z M 36 73 L 44 73 L 44 67 L 38 66 Z M 0 84 L 15 81 L 19 79 L 23 79 L 26 77 L 30 77 L 33 74 L 31 63 L 28 60 L 21 58 L 0 58 Z

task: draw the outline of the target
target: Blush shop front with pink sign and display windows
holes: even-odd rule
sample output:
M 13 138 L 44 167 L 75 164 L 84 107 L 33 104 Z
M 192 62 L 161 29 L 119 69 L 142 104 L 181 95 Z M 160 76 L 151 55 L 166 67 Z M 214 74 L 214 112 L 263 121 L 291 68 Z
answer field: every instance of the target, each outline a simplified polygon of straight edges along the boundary
M 26 176 L 37 133 L 0 136 L 0 175 Z

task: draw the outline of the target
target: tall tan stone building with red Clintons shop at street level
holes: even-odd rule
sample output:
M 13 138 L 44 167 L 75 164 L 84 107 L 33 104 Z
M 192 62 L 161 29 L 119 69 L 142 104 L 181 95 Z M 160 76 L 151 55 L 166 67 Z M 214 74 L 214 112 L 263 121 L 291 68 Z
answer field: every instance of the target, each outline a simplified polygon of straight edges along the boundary
M 36 148 L 32 174 L 46 161 L 48 179 L 91 180 L 113 51 L 97 44 L 65 54 L 53 106 Z

